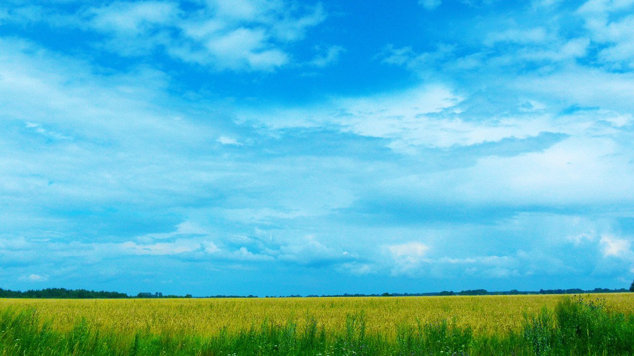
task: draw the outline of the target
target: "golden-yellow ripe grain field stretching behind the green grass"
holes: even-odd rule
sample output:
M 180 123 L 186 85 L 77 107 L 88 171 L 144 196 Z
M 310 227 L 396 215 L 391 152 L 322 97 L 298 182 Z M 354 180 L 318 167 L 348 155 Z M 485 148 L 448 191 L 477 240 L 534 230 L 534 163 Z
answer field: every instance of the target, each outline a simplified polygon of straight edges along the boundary
M 133 335 L 235 333 L 268 321 L 275 324 L 314 319 L 328 331 L 341 331 L 348 315 L 363 312 L 368 334 L 395 336 L 396 326 L 418 320 L 453 320 L 476 334 L 498 334 L 521 327 L 524 314 L 554 307 L 563 295 L 407 296 L 337 298 L 210 298 L 51 300 L 0 299 L 0 309 L 32 308 L 39 320 L 67 331 L 82 318 L 91 327 Z M 634 313 L 634 293 L 584 295 L 602 298 L 614 311 Z

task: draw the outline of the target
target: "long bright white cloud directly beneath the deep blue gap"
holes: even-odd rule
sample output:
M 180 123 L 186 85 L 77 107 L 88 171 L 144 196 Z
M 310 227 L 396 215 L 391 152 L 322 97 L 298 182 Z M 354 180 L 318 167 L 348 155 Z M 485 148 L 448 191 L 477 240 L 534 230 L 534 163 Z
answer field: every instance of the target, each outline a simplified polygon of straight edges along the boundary
M 461 120 L 453 110 L 463 98 L 445 86 L 421 86 L 402 92 L 359 98 L 333 99 L 310 108 L 263 112 L 244 110 L 240 119 L 260 121 L 271 129 L 337 125 L 343 132 L 385 137 L 409 144 L 448 147 L 496 141 L 510 136 L 512 127 L 486 127 Z M 435 114 L 448 112 L 448 115 Z M 480 135 L 479 132 L 487 132 Z M 476 135 L 481 137 L 476 137 Z M 392 146 L 399 148 L 401 146 Z

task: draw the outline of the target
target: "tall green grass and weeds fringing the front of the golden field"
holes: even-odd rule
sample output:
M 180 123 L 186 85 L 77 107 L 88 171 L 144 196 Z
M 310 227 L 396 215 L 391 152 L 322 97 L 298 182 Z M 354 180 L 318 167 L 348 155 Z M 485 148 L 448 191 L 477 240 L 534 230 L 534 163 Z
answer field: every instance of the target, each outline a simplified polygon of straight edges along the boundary
M 368 334 L 363 312 L 348 315 L 344 332 L 313 320 L 297 327 L 262 322 L 241 333 L 214 337 L 151 334 L 131 341 L 116 330 L 80 321 L 66 332 L 41 322 L 36 310 L 0 315 L 0 355 L 633 355 L 634 317 L 611 312 L 601 300 L 566 298 L 554 309 L 525 315 L 517 333 L 474 335 L 453 322 L 398 326 L 396 340 Z

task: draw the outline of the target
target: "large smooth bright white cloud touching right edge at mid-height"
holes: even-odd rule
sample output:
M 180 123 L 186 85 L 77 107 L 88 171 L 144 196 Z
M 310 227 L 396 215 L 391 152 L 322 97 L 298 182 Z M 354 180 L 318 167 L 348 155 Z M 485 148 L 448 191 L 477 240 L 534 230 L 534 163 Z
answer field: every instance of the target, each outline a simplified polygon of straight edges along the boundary
M 634 201 L 634 187 L 628 184 L 634 176 L 631 154 L 621 155 L 619 149 L 610 139 L 571 138 L 541 152 L 489 156 L 471 167 L 386 184 L 398 184 L 412 194 L 425 192 L 418 194 L 433 201 L 456 203 L 514 206 Z M 445 187 L 446 194 L 434 192 L 437 186 Z

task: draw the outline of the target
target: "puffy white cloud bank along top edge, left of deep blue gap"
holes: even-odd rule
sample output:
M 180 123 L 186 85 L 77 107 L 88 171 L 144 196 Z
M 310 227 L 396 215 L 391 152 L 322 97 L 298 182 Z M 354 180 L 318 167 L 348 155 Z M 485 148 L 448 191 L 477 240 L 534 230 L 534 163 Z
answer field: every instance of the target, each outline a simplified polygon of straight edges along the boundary
M 160 51 L 187 63 L 234 71 L 271 71 L 290 63 L 288 46 L 326 18 L 320 4 L 257 0 L 209 1 L 193 8 L 177 1 L 144 0 L 112 1 L 74 12 L 42 5 L 30 9 L 20 6 L 4 16 L 101 34 L 103 40 L 94 46 L 122 56 Z M 32 15 L 24 15 L 27 10 Z M 331 47 L 315 65 L 332 63 L 339 51 Z

